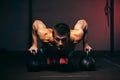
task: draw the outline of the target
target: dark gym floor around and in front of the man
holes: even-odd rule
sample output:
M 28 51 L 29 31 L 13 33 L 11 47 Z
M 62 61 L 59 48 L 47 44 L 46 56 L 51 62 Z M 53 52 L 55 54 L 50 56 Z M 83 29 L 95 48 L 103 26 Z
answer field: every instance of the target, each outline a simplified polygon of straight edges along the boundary
M 0 52 L 0 80 L 120 80 L 120 52 L 95 51 L 94 71 L 37 71 L 26 69 L 25 52 Z

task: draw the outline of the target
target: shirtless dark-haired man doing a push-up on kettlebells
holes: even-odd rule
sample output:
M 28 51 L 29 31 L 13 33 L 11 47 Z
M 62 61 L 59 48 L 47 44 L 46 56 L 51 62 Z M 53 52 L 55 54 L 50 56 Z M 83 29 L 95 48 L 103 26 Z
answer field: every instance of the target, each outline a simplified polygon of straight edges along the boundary
M 29 48 L 29 53 L 31 54 L 34 50 L 36 54 L 45 54 L 47 56 L 47 64 L 56 64 L 56 62 L 59 64 L 68 64 L 68 56 L 71 53 L 74 54 L 75 46 L 81 40 L 83 40 L 84 52 L 92 50 L 87 42 L 87 32 L 88 24 L 84 19 L 78 20 L 74 29 L 70 29 L 65 23 L 59 23 L 53 28 L 47 28 L 41 20 L 35 20 L 32 25 L 33 43 Z M 38 38 L 42 43 L 40 49 L 38 49 Z

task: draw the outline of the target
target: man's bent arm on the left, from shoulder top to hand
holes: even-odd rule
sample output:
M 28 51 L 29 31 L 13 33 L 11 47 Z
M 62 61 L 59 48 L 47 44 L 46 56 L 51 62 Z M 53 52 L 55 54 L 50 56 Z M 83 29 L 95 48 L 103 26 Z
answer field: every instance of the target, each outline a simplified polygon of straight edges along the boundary
M 32 52 L 32 50 L 35 50 L 37 52 L 38 50 L 38 41 L 37 41 L 37 31 L 39 29 L 45 28 L 45 24 L 40 20 L 35 20 L 32 25 L 32 46 L 29 48 L 29 51 Z

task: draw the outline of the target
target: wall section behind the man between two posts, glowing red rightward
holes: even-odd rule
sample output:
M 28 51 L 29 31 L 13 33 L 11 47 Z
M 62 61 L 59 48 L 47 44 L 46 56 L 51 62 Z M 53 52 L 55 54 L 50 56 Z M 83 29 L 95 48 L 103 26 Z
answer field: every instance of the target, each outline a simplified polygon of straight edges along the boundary
M 65 22 L 73 28 L 77 20 L 85 19 L 93 49 L 109 50 L 110 27 L 104 13 L 105 4 L 106 0 L 33 0 L 33 20 L 41 19 L 47 26 Z M 81 49 L 79 46 L 77 49 Z

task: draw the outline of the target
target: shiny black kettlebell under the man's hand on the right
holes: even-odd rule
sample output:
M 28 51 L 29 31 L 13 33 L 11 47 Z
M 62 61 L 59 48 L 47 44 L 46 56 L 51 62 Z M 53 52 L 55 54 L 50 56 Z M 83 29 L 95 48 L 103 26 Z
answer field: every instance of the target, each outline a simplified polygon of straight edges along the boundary
M 82 68 L 84 70 L 94 70 L 95 69 L 95 59 L 90 56 L 90 53 L 89 51 L 85 52 L 84 53 L 84 58 L 82 60 Z

